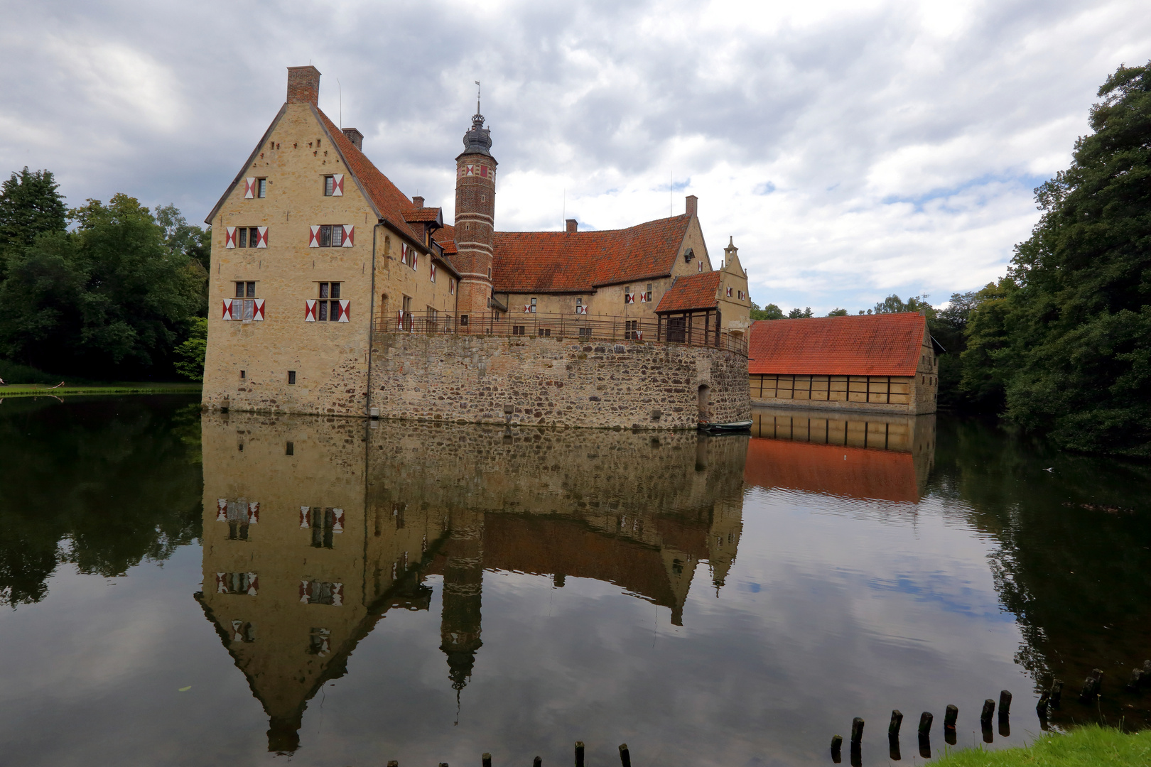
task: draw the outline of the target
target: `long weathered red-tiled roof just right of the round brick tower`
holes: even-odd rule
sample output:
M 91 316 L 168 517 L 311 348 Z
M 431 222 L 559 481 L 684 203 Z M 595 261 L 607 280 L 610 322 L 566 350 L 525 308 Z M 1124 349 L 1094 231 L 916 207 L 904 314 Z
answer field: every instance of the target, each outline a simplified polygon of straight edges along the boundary
M 688 214 L 604 231 L 495 232 L 497 293 L 588 293 L 665 277 L 692 221 Z

